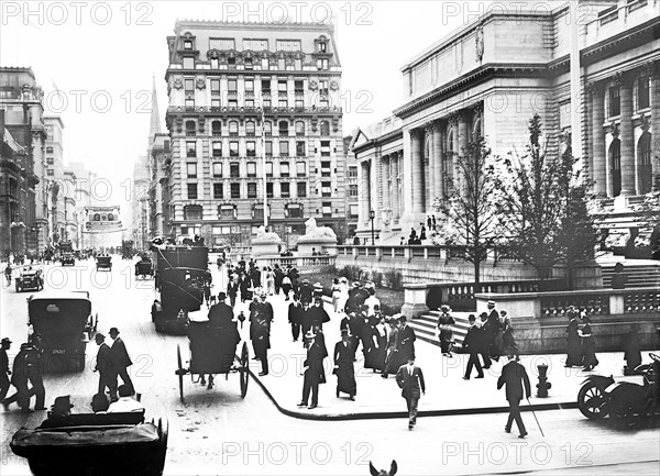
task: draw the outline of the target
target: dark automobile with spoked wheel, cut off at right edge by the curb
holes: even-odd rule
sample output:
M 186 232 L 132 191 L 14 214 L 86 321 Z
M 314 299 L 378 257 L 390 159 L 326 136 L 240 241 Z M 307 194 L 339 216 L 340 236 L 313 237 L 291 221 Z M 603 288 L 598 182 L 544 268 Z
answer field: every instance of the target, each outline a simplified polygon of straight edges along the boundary
M 578 394 L 578 408 L 590 420 L 605 417 L 615 424 L 632 427 L 660 411 L 660 355 L 637 366 L 630 375 L 590 375 Z

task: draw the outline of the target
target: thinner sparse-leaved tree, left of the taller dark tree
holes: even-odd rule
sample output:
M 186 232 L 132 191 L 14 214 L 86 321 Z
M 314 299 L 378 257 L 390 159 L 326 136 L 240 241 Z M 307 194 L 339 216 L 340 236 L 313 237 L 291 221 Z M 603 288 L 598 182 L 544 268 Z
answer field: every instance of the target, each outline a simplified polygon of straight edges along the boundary
M 448 200 L 436 200 L 443 233 L 436 239 L 441 244 L 465 247 L 479 285 L 481 263 L 503 235 L 499 179 L 496 160 L 483 137 L 469 142 L 462 153 L 457 174 L 447 182 Z

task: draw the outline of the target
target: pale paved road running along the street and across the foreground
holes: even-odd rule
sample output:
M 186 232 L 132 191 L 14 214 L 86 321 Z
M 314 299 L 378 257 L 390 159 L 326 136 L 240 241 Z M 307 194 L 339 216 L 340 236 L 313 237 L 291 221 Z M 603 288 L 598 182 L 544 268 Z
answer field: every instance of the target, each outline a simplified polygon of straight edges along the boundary
M 585 420 L 578 410 L 539 412 L 544 439 L 534 430 L 531 416 L 525 414 L 532 431 L 521 441 L 515 434 L 504 433 L 504 414 L 420 419 L 413 432 L 407 430 L 405 420 L 292 419 L 278 413 L 254 383 L 242 400 L 238 375 L 217 381 L 212 390 L 187 379 L 187 405 L 183 406 L 174 369 L 176 345 L 185 347 L 187 340 L 154 332 L 148 312 L 153 283 L 136 284 L 132 263 L 118 256 L 113 262 L 112 273 L 47 268 L 46 289 L 89 290 L 94 310 L 99 313 L 99 330 L 107 332 L 113 325 L 120 329 L 135 363 L 132 377 L 143 395 L 147 417 L 165 414 L 170 421 L 166 474 L 366 475 L 370 460 L 385 468 L 392 458 L 396 458 L 402 475 L 522 471 L 658 474 L 657 429 L 615 431 L 607 424 Z M 91 261 L 85 265 L 91 266 Z M 0 294 L 0 330 L 16 343 L 13 352 L 26 335 L 29 296 L 16 295 L 13 289 L 2 289 Z M 94 355 L 92 343 L 88 356 Z M 97 385 L 90 364 L 81 374 L 47 376 L 47 403 L 57 395 L 72 394 L 77 396 L 75 410 L 87 410 L 84 406 Z M 294 389 L 296 395 L 298 391 Z M 11 453 L 9 441 L 16 429 L 35 427 L 43 418 L 43 412 L 24 416 L 15 407 L 2 414 L 0 473 L 29 474 L 24 461 Z M 566 466 L 569 469 L 563 469 Z

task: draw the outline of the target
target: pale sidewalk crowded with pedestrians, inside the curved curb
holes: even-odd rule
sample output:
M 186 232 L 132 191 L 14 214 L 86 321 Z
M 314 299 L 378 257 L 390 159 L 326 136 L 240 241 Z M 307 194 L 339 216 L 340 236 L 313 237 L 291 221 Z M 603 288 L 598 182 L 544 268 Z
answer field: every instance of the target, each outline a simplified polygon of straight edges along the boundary
M 339 323 L 341 317 L 334 314 L 329 305 L 326 310 L 331 322 L 323 325 L 326 345 L 329 358 L 326 359 L 326 376 L 328 383 L 320 385 L 319 406 L 314 410 L 299 408 L 297 403 L 302 392 L 302 362 L 305 351 L 300 341 L 293 342 L 290 325 L 287 322 L 288 303 L 282 296 L 270 297 L 270 302 L 275 310 L 275 320 L 272 326 L 271 350 L 268 352 L 270 375 L 258 377 L 261 364 L 250 361 L 251 376 L 264 389 L 276 407 L 285 414 L 301 419 L 319 420 L 353 420 L 370 418 L 404 418 L 407 416 L 406 402 L 400 396 L 394 376 L 387 379 L 371 369 L 363 368 L 362 350 L 358 351 L 355 363 L 355 380 L 358 395 L 355 401 L 349 400 L 345 394 L 336 397 L 337 377 L 332 375 L 332 351 L 340 340 Z M 248 302 L 237 303 L 234 312 L 245 311 Z M 243 339 L 249 339 L 249 323 L 245 322 L 241 330 Z M 436 345 L 417 340 L 416 365 L 421 367 L 425 375 L 427 392 L 419 401 L 420 416 L 443 416 L 465 413 L 488 413 L 507 411 L 508 405 L 504 390 L 497 390 L 497 377 L 506 361 L 502 358 L 493 363 L 485 372 L 485 378 L 475 379 L 475 370 L 470 380 L 463 380 L 468 355 L 454 354 L 452 358 L 443 357 Z M 250 355 L 253 356 L 252 345 L 248 340 Z M 623 353 L 597 354 L 600 365 L 596 374 L 622 375 L 624 365 Z M 521 356 L 531 383 L 534 409 L 565 409 L 576 408 L 576 398 L 584 378 L 591 373 L 583 372 L 580 367 L 564 368 L 565 355 L 530 355 Z M 644 362 L 648 361 L 647 353 Z M 551 384 L 548 398 L 536 397 L 538 384 L 537 366 L 546 364 L 548 381 Z M 253 384 L 254 385 L 254 384 Z M 249 397 L 248 397 L 249 398 Z M 524 405 L 527 407 L 527 403 Z

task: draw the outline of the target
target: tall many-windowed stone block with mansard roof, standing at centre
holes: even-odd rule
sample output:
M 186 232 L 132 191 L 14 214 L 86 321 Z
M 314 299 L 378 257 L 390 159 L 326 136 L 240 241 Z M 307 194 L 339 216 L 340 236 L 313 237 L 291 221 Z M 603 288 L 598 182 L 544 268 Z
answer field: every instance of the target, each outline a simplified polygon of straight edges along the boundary
M 345 236 L 333 26 L 178 21 L 167 43 L 169 232 L 248 244 L 265 212 L 289 245 L 310 217 Z

